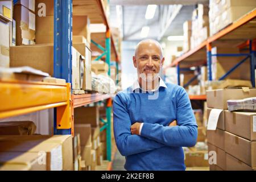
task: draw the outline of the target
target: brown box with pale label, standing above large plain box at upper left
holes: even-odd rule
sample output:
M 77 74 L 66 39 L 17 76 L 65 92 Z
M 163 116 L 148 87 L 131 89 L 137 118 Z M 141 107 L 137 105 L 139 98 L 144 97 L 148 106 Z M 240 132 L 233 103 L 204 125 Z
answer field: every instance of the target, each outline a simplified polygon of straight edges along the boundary
M 35 14 L 22 5 L 14 6 L 16 45 L 35 44 Z

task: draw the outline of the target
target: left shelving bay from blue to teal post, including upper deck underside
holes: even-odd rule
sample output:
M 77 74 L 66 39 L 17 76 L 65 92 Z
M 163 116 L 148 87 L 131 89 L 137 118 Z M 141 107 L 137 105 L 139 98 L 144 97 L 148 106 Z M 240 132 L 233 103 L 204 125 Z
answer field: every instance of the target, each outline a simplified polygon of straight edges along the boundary
M 104 51 L 106 63 L 109 65 L 108 75 L 110 76 L 110 59 L 111 55 L 118 62 L 118 54 L 114 47 L 113 39 L 110 34 L 108 18 L 106 17 L 102 0 L 55 0 L 55 19 L 54 19 L 54 76 L 64 78 L 67 82 L 72 82 L 72 15 L 87 15 L 90 23 L 104 23 L 106 25 L 105 36 L 97 38 L 97 41 L 105 43 L 104 45 L 96 44 L 97 48 Z M 68 35 L 68 36 L 67 36 Z M 93 49 L 93 47 L 92 47 Z M 111 54 L 111 49 L 114 51 Z M 106 122 L 101 131 L 106 129 L 107 159 L 111 161 L 111 107 L 112 99 L 109 94 L 72 94 L 70 100 L 71 127 L 69 129 L 60 129 L 57 119 L 60 118 L 61 112 L 55 110 L 55 134 L 73 134 L 73 114 L 74 108 L 87 105 L 93 102 L 106 100 Z

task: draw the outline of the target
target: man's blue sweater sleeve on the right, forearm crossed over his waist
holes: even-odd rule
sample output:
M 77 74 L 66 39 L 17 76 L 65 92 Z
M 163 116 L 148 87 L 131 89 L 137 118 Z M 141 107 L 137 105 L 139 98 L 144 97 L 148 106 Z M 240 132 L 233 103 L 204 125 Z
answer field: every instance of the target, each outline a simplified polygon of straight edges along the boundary
M 181 88 L 177 96 L 177 126 L 144 123 L 141 136 L 172 147 L 192 147 L 197 140 L 197 124 L 188 94 Z

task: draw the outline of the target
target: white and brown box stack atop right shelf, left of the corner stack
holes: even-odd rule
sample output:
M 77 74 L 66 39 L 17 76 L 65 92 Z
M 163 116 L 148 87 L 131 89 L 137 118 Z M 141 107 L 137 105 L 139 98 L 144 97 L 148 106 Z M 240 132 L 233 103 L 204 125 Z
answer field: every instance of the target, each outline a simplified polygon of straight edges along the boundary
M 209 7 L 198 4 L 192 14 L 191 49 L 199 46 L 209 37 Z

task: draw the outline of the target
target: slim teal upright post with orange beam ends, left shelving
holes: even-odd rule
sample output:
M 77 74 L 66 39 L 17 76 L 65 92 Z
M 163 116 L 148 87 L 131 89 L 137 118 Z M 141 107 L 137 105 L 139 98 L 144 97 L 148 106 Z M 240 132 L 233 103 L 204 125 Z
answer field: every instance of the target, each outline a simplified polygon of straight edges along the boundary
M 111 44 L 110 44 L 110 30 L 106 31 L 106 63 L 109 65 L 108 75 L 110 76 L 110 57 L 111 57 Z M 107 160 L 111 161 L 111 106 L 112 100 L 109 98 L 106 104 L 106 119 L 107 119 L 107 127 L 106 127 L 106 146 L 107 146 Z

